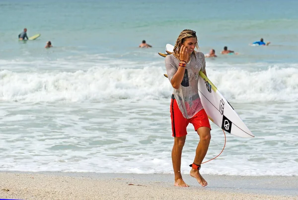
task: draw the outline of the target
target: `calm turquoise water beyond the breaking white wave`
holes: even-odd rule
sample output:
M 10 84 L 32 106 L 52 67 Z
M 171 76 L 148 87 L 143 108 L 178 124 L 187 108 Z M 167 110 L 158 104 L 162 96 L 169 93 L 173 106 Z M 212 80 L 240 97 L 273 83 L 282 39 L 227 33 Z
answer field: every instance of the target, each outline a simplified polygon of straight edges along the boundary
M 36 56 L 36 51 L 48 40 L 57 48 L 64 48 L 59 52 L 62 57 L 73 55 L 73 51 L 124 53 L 137 50 L 144 39 L 155 52 L 163 50 L 167 43 L 173 44 L 180 31 L 189 28 L 198 32 L 199 45 L 204 52 L 211 48 L 220 52 L 228 46 L 246 55 L 236 59 L 239 62 L 264 58 L 270 62 L 296 61 L 297 1 L 273 0 L 263 5 L 257 0 L 191 0 L 188 3 L 190 6 L 182 10 L 184 2 L 177 0 L 129 0 L 126 3 L 119 0 L 53 0 L 51 3 L 2 0 L 0 17 L 5 20 L 1 26 L 1 55 L 13 58 L 28 56 L 26 53 L 32 51 Z M 28 28 L 29 36 L 41 33 L 42 37 L 30 44 L 15 43 L 24 27 Z M 272 42 L 266 51 L 248 46 L 261 37 Z

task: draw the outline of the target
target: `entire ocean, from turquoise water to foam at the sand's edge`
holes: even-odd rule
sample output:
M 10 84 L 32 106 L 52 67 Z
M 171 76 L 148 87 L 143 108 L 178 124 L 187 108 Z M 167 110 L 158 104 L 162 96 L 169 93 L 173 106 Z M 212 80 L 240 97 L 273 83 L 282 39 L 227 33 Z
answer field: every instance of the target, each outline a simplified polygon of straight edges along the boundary
M 263 4 L 262 4 L 263 3 Z M 0 170 L 173 173 L 166 44 L 197 32 L 208 77 L 253 139 L 226 136 L 202 174 L 298 175 L 298 2 L 1 0 Z M 287 13 L 285 15 L 285 13 Z M 23 28 L 35 41 L 18 42 Z M 267 47 L 249 46 L 264 38 Z M 45 49 L 47 41 L 54 48 Z M 139 49 L 146 40 L 153 48 Z M 224 46 L 238 55 L 221 55 Z M 206 160 L 224 146 L 211 123 Z M 199 137 L 182 154 L 188 173 Z

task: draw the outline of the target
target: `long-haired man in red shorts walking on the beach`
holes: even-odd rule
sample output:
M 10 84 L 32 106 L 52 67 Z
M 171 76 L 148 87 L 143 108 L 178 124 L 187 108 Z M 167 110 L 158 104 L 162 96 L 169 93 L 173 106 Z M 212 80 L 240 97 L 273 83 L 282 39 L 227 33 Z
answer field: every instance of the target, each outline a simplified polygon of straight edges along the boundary
M 199 93 L 199 72 L 206 76 L 205 56 L 198 48 L 198 39 L 195 31 L 183 30 L 177 38 L 174 52 L 165 57 L 165 68 L 168 79 L 173 87 L 170 113 L 172 123 L 172 136 L 174 145 L 172 149 L 172 163 L 175 176 L 174 186 L 189 187 L 181 175 L 181 155 L 186 140 L 186 127 L 192 123 L 194 130 L 200 137 L 193 163 L 190 165 L 190 175 L 199 184 L 207 186 L 207 181 L 201 176 L 199 170 L 208 151 L 211 140 L 210 123 L 203 108 Z

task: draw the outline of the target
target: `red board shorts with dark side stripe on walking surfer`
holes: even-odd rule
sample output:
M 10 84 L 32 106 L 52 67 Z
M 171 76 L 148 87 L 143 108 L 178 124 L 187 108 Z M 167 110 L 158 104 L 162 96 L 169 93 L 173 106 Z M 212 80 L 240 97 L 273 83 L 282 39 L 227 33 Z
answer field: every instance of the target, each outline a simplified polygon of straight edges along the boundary
M 193 124 L 195 131 L 197 131 L 200 127 L 208 127 L 211 130 L 209 119 L 204 109 L 200 110 L 192 118 L 186 119 L 183 117 L 182 112 L 178 107 L 177 101 L 172 97 L 170 112 L 173 137 L 186 136 L 186 127 L 189 123 Z

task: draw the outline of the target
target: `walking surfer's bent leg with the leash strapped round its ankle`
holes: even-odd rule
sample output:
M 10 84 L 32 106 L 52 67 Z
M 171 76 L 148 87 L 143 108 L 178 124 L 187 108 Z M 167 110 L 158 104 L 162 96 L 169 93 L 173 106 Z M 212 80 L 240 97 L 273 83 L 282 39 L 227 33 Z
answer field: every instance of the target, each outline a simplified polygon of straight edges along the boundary
M 200 142 L 198 144 L 198 147 L 196 149 L 196 156 L 194 159 L 194 163 L 197 165 L 201 165 L 202 161 L 208 151 L 210 140 L 211 140 L 211 134 L 210 134 L 210 128 L 208 127 L 200 127 L 197 130 L 199 136 L 200 136 Z M 207 186 L 207 181 L 201 176 L 199 170 L 192 168 L 190 171 L 190 175 L 197 179 L 198 183 L 202 186 Z

